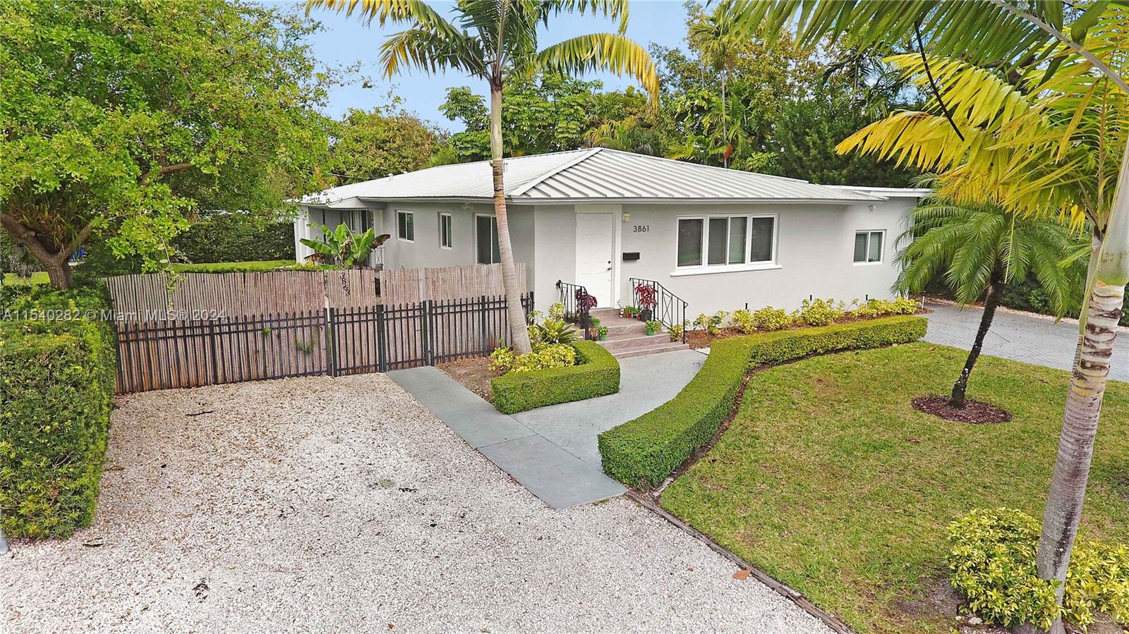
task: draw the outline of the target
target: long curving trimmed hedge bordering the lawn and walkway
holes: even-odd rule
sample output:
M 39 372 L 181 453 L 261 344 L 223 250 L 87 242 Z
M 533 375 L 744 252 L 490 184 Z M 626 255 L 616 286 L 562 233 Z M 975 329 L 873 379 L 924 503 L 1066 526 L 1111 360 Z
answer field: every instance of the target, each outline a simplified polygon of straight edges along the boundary
M 712 438 L 752 368 L 809 354 L 909 343 L 925 331 L 926 319 L 901 316 L 717 340 L 706 364 L 677 396 L 599 434 L 604 472 L 639 488 L 663 482 Z

